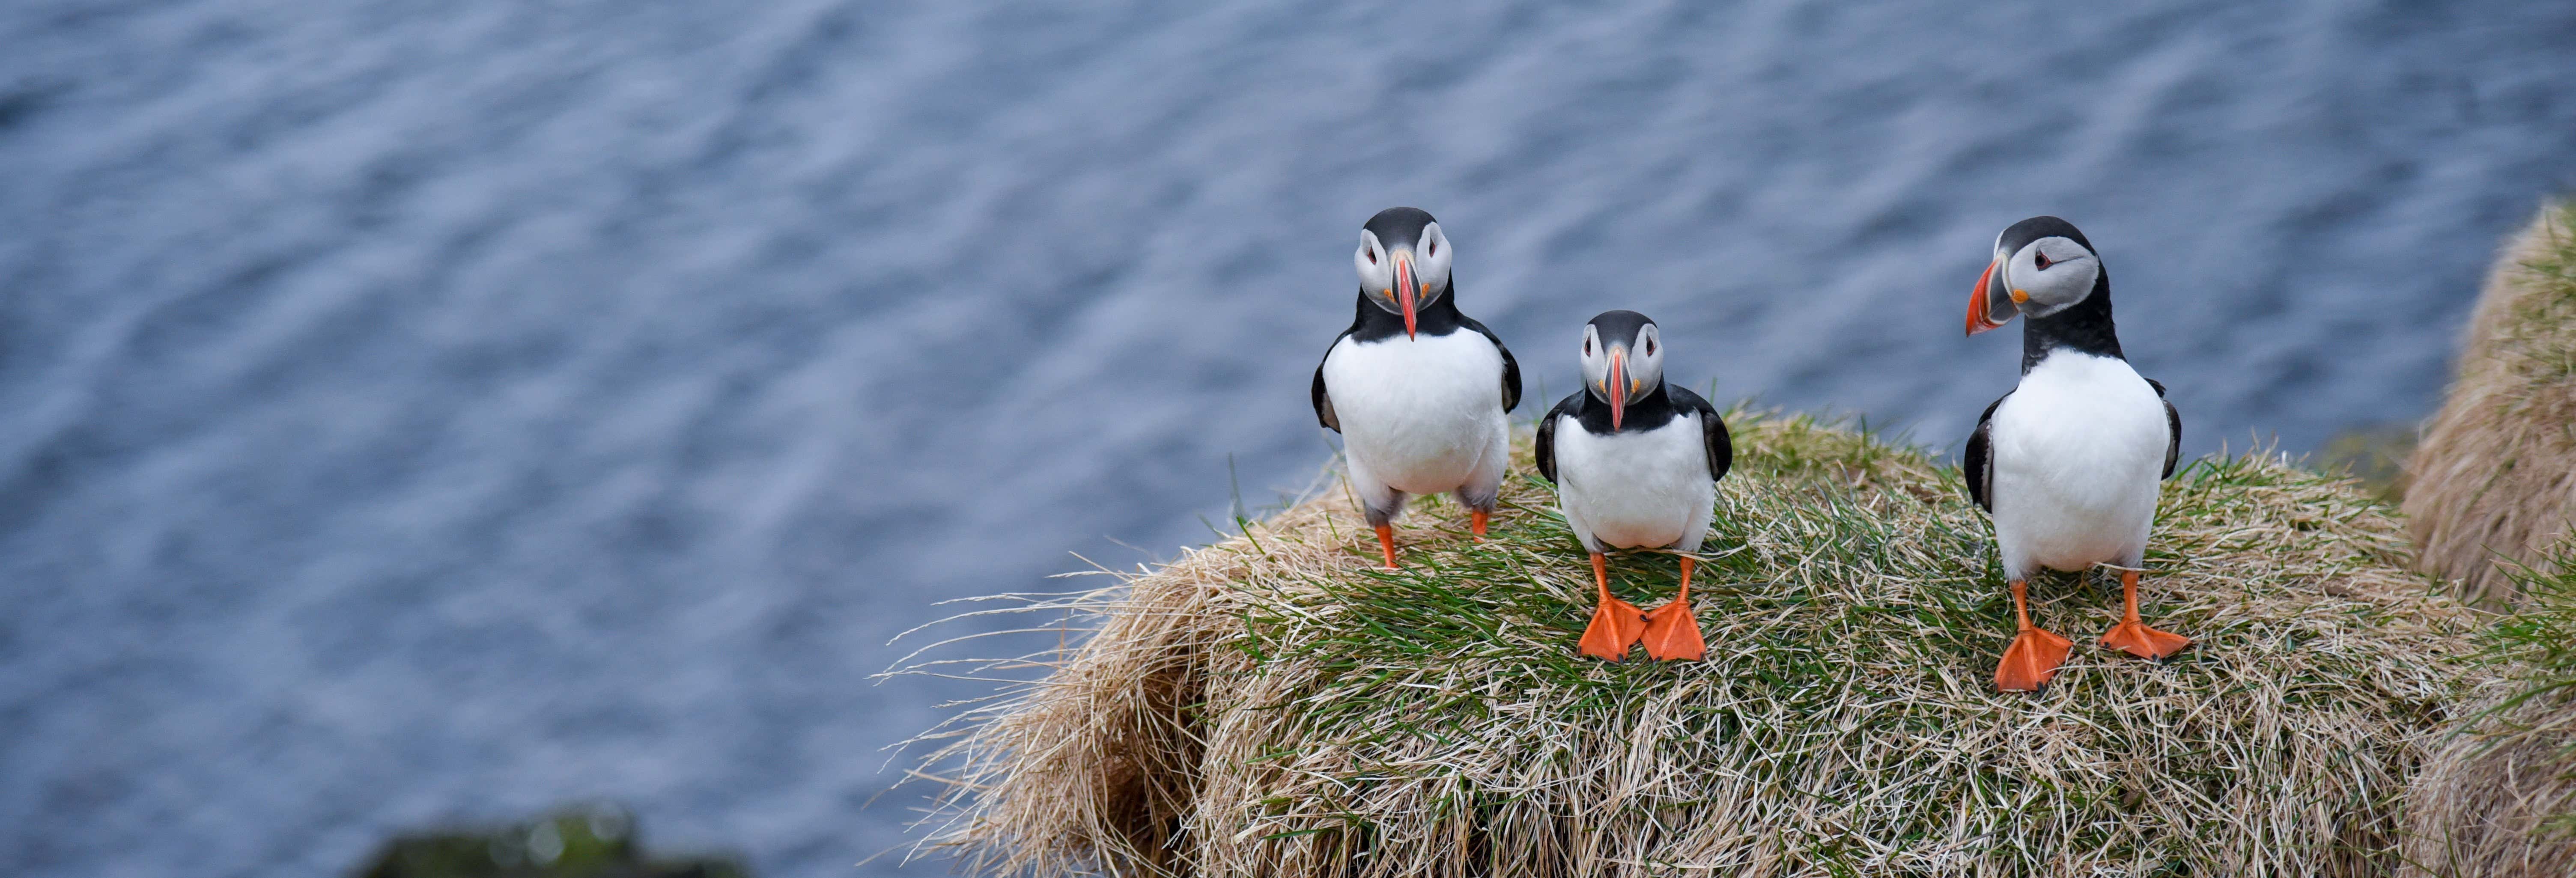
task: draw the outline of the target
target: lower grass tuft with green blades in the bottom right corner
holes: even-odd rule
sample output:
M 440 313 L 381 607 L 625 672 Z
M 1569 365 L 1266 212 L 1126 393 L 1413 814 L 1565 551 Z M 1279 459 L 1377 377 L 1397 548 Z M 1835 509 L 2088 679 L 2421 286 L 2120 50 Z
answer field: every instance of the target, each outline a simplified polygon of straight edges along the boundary
M 2481 639 L 2483 708 L 2424 765 L 2406 875 L 2576 875 L 2576 536 L 2509 569 L 2524 602 Z

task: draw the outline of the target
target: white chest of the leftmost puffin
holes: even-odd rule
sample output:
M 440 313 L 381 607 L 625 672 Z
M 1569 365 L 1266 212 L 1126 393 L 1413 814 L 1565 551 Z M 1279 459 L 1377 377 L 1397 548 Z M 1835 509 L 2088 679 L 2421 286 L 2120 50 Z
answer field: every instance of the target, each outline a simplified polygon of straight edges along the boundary
M 1342 453 L 1412 494 L 1458 489 L 1510 430 L 1502 350 L 1473 330 L 1345 337 L 1324 355 L 1324 394 L 1342 422 Z

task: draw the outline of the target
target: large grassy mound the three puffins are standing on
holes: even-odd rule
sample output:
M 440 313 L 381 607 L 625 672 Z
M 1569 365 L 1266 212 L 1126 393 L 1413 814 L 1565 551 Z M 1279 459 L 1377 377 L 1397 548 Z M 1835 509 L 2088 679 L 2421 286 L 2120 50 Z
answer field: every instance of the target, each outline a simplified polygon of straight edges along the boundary
M 1955 469 L 1803 417 L 1739 422 L 1695 595 L 1708 662 L 1574 657 L 1589 569 L 1520 469 L 1489 543 L 1342 492 L 1023 610 L 1095 636 L 925 736 L 933 847 L 976 873 L 2385 875 L 2476 667 L 2388 507 L 2272 456 L 2164 489 L 2151 664 L 2092 646 L 2107 577 L 2035 582 L 2079 641 L 1994 693 L 2009 628 Z M 1613 561 L 1623 597 L 1674 587 Z M 1002 662 L 1007 664 L 1007 662 Z M 943 667 L 945 669 L 945 667 Z

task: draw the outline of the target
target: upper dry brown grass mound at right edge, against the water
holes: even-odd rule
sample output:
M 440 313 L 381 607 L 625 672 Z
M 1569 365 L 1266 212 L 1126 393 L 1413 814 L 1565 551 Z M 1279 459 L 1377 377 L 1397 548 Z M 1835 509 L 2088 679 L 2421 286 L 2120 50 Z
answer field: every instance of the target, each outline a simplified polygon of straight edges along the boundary
M 2409 463 L 2406 518 L 2427 572 L 2512 602 L 2496 561 L 2535 564 L 2576 515 L 2576 234 L 2540 211 L 2496 257 L 2460 376 Z

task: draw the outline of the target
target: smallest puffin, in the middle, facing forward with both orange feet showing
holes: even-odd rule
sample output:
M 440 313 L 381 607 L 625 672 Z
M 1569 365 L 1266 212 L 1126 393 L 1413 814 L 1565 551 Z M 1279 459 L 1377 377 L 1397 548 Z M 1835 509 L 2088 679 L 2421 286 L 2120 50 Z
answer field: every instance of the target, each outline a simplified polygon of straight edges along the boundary
M 1618 662 L 1646 644 L 1654 659 L 1695 662 L 1708 654 L 1690 615 L 1690 572 L 1718 502 L 1718 479 L 1734 466 L 1734 440 L 1718 409 L 1687 386 L 1664 381 L 1664 340 L 1638 312 L 1602 312 L 1584 324 L 1584 389 L 1538 420 L 1538 474 L 1556 484 L 1556 505 L 1574 538 L 1592 554 L 1592 626 L 1582 654 Z M 1610 548 L 1674 548 L 1682 592 L 1638 613 L 1610 597 Z

